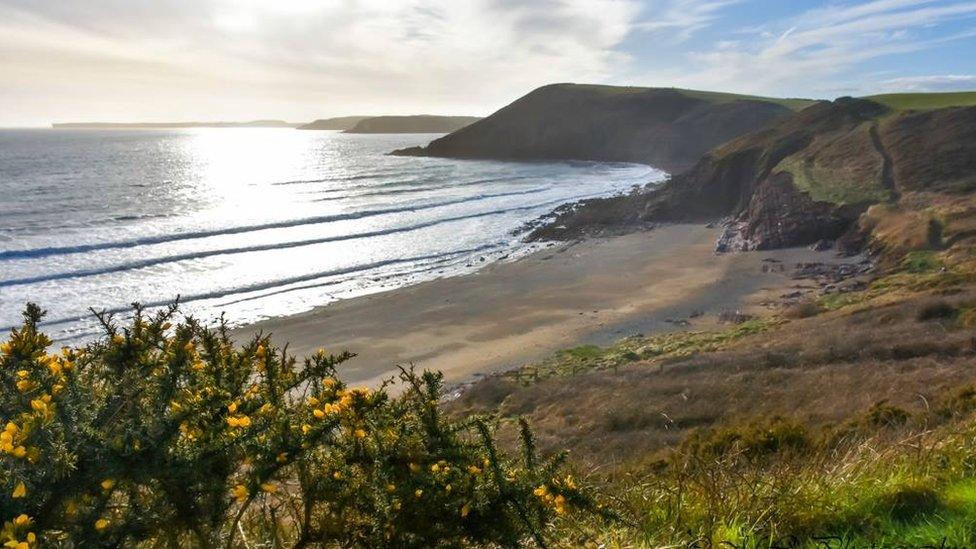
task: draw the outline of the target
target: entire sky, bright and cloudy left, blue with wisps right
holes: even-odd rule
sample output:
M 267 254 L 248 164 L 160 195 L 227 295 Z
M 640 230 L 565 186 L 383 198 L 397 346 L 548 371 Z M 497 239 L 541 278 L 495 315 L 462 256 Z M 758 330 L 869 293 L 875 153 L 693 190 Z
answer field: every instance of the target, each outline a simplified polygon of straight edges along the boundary
M 486 115 L 552 82 L 976 89 L 974 0 L 0 0 L 0 126 Z

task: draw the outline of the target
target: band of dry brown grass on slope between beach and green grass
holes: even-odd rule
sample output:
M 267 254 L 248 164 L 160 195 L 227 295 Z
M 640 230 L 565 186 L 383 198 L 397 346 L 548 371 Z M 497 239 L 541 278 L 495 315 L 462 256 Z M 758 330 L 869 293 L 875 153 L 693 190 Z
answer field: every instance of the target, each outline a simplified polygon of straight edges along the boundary
M 524 387 L 490 378 L 452 408 L 525 416 L 541 447 L 569 447 L 579 463 L 610 470 L 660 458 L 703 427 L 783 416 L 820 429 L 882 401 L 915 414 L 976 382 L 972 332 L 941 314 L 920 321 L 919 311 L 974 300 L 976 290 L 960 290 L 825 312 L 670 364 L 635 362 Z

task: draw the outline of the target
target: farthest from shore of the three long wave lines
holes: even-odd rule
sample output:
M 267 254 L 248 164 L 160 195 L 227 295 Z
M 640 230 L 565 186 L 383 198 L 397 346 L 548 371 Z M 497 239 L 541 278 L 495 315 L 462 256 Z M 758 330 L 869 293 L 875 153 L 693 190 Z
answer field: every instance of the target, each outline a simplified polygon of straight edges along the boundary
M 180 240 L 194 240 L 200 238 L 210 238 L 214 236 L 223 236 L 231 234 L 241 234 L 249 233 L 255 231 L 263 231 L 268 229 L 284 229 L 290 227 L 299 227 L 302 225 L 318 225 L 322 223 L 333 223 L 336 221 L 347 221 L 352 219 L 363 219 L 367 217 L 374 217 L 377 215 L 387 215 L 393 213 L 404 213 L 404 212 L 414 212 L 422 210 L 432 210 L 435 208 L 441 208 L 444 206 L 453 206 L 455 204 L 464 204 L 467 202 L 477 202 L 480 200 L 487 200 L 489 198 L 501 198 L 505 196 L 519 196 L 528 195 L 534 193 L 540 193 L 547 190 L 547 188 L 537 188 L 530 189 L 527 191 L 511 191 L 504 193 L 493 193 L 493 194 L 479 194 L 475 196 L 469 196 L 465 198 L 458 198 L 454 200 L 445 200 L 442 202 L 435 202 L 432 204 L 421 204 L 421 205 L 409 205 L 400 206 L 396 208 L 383 208 L 377 210 L 366 210 L 363 212 L 349 212 L 344 214 L 333 214 L 333 215 L 323 215 L 315 217 L 306 217 L 302 219 L 291 219 L 287 221 L 274 221 L 270 223 L 260 223 L 254 225 L 243 225 L 238 227 L 228 227 L 224 229 L 215 229 L 207 231 L 191 231 L 185 233 L 171 233 L 156 236 L 146 236 L 141 238 L 133 238 L 130 240 L 117 240 L 114 242 L 98 242 L 93 244 L 78 244 L 75 246 L 51 246 L 45 248 L 29 248 L 24 250 L 5 250 L 0 251 L 0 261 L 10 261 L 13 259 L 34 259 L 41 257 L 50 257 L 53 255 L 68 255 L 68 254 L 79 254 L 86 252 L 93 252 L 99 250 L 111 250 L 111 249 L 121 249 L 121 248 L 136 248 L 139 246 L 149 246 L 154 244 L 164 244 L 167 242 L 176 242 Z

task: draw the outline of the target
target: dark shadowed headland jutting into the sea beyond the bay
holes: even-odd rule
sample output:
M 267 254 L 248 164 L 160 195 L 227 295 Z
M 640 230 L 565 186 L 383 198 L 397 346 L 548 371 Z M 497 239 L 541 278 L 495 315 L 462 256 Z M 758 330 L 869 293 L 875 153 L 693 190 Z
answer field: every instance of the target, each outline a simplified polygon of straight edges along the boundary
M 553 84 L 427 147 L 394 154 L 639 162 L 678 172 L 712 147 L 791 113 L 737 96 Z

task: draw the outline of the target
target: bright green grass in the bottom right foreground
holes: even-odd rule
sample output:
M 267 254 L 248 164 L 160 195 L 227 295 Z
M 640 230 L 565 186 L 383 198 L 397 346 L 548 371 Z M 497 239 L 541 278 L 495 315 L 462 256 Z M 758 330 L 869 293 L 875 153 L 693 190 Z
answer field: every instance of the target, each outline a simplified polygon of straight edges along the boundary
M 778 419 L 706 431 L 652 472 L 610 481 L 626 523 L 576 528 L 608 547 L 976 543 L 972 418 L 839 433 Z

